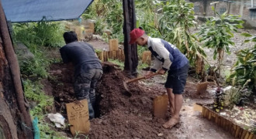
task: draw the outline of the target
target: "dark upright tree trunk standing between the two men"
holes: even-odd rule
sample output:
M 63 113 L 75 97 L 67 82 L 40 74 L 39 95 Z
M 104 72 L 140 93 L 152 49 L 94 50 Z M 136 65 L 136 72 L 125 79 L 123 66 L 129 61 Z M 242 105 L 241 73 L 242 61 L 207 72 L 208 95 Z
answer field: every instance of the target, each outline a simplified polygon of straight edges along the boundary
M 133 0 L 123 0 L 123 34 L 124 34 L 124 70 L 137 76 L 138 55 L 137 44 L 130 45 L 130 31 L 136 28 L 136 15 Z

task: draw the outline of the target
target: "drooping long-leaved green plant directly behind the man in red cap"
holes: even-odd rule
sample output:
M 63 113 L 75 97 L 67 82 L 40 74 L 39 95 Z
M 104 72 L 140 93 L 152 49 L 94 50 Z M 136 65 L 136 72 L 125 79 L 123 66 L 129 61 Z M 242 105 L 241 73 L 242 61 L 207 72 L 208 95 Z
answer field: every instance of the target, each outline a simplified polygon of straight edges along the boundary
M 185 0 L 170 0 L 162 6 L 163 15 L 159 20 L 159 31 L 163 38 L 185 53 L 197 73 L 202 72 L 202 57 L 206 56 L 206 53 L 197 45 L 197 36 L 190 32 L 196 25 L 194 5 Z

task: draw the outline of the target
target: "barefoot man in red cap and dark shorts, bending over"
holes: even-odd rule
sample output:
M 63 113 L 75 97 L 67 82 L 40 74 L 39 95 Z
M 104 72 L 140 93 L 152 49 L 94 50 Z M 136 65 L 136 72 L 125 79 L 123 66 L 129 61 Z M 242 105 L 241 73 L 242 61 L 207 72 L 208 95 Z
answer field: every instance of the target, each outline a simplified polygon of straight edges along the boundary
M 151 38 L 142 29 L 133 29 L 130 32 L 130 44 L 133 43 L 137 43 L 140 46 L 147 46 L 155 58 L 154 65 L 145 74 L 146 78 L 152 77 L 155 72 L 160 74 L 168 72 L 164 86 L 168 93 L 171 119 L 163 127 L 171 128 L 179 122 L 179 113 L 183 102 L 182 93 L 189 71 L 189 60 L 170 42 L 166 42 L 163 39 Z

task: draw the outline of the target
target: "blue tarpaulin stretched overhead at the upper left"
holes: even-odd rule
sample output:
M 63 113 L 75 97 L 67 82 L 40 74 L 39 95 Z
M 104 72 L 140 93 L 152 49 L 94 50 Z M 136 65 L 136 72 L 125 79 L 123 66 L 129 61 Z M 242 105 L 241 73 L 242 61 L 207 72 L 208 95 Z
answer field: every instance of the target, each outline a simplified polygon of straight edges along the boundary
M 11 22 L 78 19 L 93 0 L 0 0 Z

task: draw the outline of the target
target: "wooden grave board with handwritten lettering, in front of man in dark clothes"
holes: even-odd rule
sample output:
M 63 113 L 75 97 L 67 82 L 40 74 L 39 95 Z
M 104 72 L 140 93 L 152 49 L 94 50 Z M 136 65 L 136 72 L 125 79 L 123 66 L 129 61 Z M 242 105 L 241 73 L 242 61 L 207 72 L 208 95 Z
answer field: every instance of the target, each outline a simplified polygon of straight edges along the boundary
M 71 124 L 70 130 L 73 136 L 77 134 L 88 134 L 90 129 L 88 102 L 81 100 L 81 103 L 66 103 L 67 120 Z

